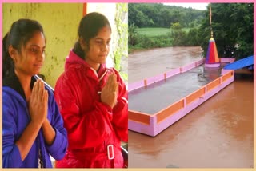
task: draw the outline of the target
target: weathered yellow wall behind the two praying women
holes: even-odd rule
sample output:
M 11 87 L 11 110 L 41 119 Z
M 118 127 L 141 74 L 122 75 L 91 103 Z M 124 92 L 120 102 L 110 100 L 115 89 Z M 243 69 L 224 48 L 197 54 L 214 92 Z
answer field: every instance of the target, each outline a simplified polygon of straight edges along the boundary
M 3 3 L 2 34 L 4 36 L 19 18 L 38 20 L 42 24 L 46 35 L 46 60 L 41 74 L 54 88 L 64 70 L 65 58 L 77 40 L 82 10 L 82 3 Z

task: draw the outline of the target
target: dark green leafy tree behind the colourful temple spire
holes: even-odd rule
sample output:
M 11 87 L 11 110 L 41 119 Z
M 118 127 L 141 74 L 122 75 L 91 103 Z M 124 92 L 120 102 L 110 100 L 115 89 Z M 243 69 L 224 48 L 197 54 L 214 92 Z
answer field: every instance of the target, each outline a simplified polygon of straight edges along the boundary
M 254 54 L 254 4 L 213 3 L 212 30 L 219 57 L 246 58 Z M 198 30 L 200 42 L 206 55 L 210 39 L 209 9 Z

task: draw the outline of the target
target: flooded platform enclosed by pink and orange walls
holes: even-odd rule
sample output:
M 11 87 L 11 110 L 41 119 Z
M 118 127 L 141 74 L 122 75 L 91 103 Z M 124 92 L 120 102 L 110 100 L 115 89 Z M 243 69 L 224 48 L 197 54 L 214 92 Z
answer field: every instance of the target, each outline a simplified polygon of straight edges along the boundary
M 234 81 L 234 70 L 207 69 L 203 63 L 128 85 L 128 129 L 155 137 Z

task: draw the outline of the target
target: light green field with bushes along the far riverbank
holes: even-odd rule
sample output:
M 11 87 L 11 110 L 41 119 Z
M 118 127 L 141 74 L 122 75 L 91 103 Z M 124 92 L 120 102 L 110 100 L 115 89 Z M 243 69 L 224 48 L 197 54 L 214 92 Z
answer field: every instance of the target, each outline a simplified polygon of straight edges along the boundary
M 197 28 L 189 29 L 181 27 L 177 30 L 129 27 L 128 52 L 168 46 L 198 46 L 197 32 Z

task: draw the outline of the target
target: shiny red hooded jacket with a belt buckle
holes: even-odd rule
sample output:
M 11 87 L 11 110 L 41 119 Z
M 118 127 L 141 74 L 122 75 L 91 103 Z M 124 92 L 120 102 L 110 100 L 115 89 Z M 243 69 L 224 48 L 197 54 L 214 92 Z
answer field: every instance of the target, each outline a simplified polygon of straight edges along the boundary
M 119 83 L 113 109 L 100 101 L 99 93 L 110 73 Z M 71 50 L 54 93 L 69 141 L 56 167 L 122 167 L 120 141 L 128 141 L 128 94 L 118 71 L 101 65 L 96 73 Z

